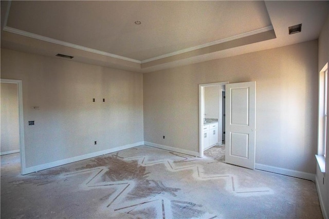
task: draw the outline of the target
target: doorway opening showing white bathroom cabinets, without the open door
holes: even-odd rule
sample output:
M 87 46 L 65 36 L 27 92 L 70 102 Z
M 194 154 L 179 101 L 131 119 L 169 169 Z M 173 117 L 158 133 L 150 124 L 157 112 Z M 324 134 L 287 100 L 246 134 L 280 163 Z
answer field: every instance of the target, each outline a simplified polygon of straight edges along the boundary
M 225 84 L 227 83 L 199 85 L 199 157 L 203 157 L 204 151 L 212 147 L 225 145 Z

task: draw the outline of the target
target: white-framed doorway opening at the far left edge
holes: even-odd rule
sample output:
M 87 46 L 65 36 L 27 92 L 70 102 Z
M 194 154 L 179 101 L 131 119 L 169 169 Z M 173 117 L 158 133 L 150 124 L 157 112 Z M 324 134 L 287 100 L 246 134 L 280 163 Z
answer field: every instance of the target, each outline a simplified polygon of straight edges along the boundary
M 21 80 L 1 79 L 1 160 L 20 165 L 25 174 L 22 94 Z

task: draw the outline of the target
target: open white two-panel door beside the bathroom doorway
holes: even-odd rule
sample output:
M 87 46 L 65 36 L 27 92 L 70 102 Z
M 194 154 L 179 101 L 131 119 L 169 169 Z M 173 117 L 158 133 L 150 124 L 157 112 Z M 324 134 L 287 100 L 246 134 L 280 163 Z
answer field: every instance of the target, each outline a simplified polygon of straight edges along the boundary
M 255 169 L 256 82 L 225 85 L 225 162 Z

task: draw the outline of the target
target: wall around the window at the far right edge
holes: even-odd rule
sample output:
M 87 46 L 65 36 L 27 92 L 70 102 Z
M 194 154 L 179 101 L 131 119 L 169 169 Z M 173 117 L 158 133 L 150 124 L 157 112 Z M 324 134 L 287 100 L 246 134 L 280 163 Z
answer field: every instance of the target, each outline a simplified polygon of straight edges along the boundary
M 323 66 L 329 63 L 329 13 L 326 19 L 326 22 L 322 28 L 320 37 L 319 37 L 319 65 L 318 65 L 318 74 L 322 70 Z M 329 95 L 328 95 L 329 97 Z M 328 100 L 329 101 L 329 100 Z M 327 109 L 328 111 L 328 109 Z M 327 112 L 328 114 L 328 112 Z M 327 121 L 327 127 L 329 127 L 329 121 Z M 329 130 L 327 129 L 327 139 L 329 139 Z M 326 142 L 326 151 L 329 154 L 329 142 Z M 316 171 L 316 182 L 317 189 L 320 199 L 321 210 L 324 218 L 329 218 L 329 156 L 325 158 L 325 172 L 326 174 L 321 173 L 319 166 L 317 165 Z

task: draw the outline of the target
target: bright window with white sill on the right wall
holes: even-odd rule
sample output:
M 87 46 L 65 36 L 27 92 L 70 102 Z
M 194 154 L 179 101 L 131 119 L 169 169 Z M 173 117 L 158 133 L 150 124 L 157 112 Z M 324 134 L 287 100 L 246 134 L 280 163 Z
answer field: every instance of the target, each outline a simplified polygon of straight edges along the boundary
M 318 153 L 316 155 L 321 172 L 325 172 L 327 144 L 327 105 L 328 105 L 328 63 L 319 74 L 319 118 L 318 118 Z

